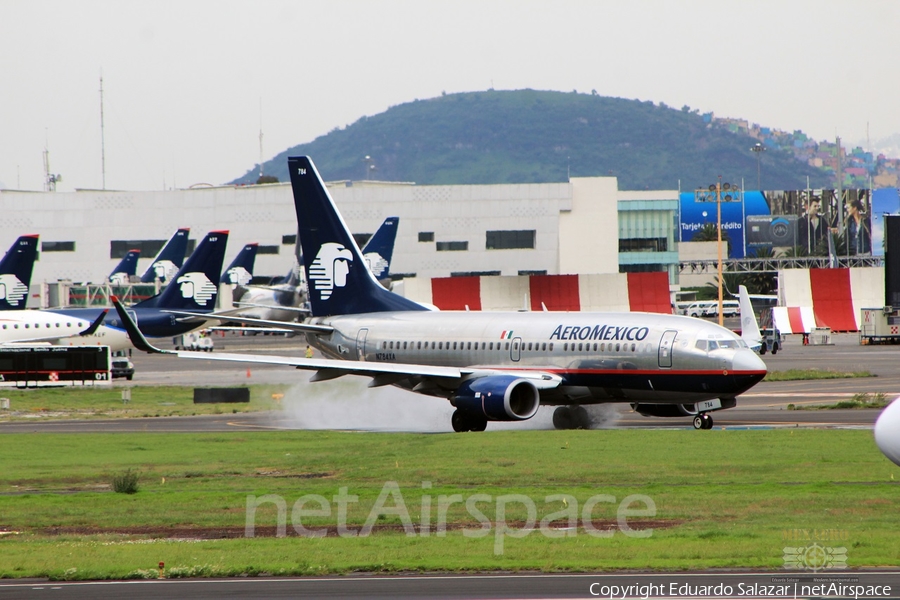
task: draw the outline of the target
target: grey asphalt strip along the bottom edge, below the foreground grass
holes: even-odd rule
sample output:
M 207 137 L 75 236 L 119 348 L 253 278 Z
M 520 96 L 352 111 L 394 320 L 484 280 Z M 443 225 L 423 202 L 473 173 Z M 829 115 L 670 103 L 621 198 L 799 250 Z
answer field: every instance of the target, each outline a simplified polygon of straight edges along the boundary
M 624 574 L 496 574 L 252 578 L 227 580 L 111 581 L 85 583 L 0 581 L 3 598 L 591 598 L 618 597 L 612 589 L 631 589 L 629 598 L 797 598 L 827 597 L 830 586 L 863 586 L 877 590 L 860 598 L 896 598 L 900 572 L 837 573 L 624 573 Z M 613 588 L 612 586 L 617 586 Z M 629 586 L 634 586 L 629 588 Z M 806 587 L 804 587 L 806 586 Z M 877 586 L 877 587 L 876 587 Z M 702 593 L 711 588 L 710 592 Z M 834 588 L 831 588 L 834 589 Z M 716 591 L 719 593 L 715 593 Z M 775 594 L 780 591 L 782 593 Z M 818 592 L 818 593 L 806 593 Z M 886 594 L 881 592 L 887 591 Z M 700 593 L 698 593 L 700 592 Z M 795 593 L 799 592 L 799 593 Z M 833 594 L 832 594 L 833 596 Z M 854 597 L 853 592 L 840 597 Z

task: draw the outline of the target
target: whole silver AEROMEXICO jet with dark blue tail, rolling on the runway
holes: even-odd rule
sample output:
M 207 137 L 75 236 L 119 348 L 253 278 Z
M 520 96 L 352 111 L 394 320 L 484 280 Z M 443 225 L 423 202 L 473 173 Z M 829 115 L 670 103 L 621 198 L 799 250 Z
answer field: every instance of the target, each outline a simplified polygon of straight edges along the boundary
M 327 359 L 176 352 L 180 357 L 290 365 L 313 381 L 371 377 L 446 398 L 456 431 L 490 420 L 522 421 L 554 405 L 554 425 L 585 426 L 583 406 L 629 403 L 652 415 L 735 406 L 766 374 L 737 335 L 690 317 L 651 313 L 441 312 L 378 284 L 366 268 L 319 173 L 307 157 L 288 159 L 313 317 L 294 324 Z M 140 350 L 143 339 L 115 302 Z M 283 324 L 287 326 L 287 324 Z

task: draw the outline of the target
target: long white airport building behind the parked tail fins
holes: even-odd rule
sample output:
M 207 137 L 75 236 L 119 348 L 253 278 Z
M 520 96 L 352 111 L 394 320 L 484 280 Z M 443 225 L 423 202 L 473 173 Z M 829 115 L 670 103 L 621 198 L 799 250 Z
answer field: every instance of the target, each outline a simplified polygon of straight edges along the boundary
M 407 277 L 666 271 L 677 284 L 676 190 L 623 192 L 615 177 L 568 183 L 329 183 L 360 238 L 400 218 L 391 271 Z M 171 191 L 0 191 L 0 248 L 39 234 L 33 284 L 102 283 L 131 248 L 138 273 L 179 227 L 228 230 L 226 263 L 259 243 L 257 275 L 283 275 L 296 248 L 288 183 Z M 193 245 L 189 246 L 192 248 Z

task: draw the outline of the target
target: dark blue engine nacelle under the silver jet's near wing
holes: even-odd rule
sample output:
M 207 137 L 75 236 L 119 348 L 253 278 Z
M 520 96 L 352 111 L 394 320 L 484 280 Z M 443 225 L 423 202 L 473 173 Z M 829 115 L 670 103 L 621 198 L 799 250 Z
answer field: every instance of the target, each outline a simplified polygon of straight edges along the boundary
M 464 381 L 450 398 L 450 403 L 490 421 L 524 421 L 535 415 L 541 397 L 527 379 L 489 375 Z

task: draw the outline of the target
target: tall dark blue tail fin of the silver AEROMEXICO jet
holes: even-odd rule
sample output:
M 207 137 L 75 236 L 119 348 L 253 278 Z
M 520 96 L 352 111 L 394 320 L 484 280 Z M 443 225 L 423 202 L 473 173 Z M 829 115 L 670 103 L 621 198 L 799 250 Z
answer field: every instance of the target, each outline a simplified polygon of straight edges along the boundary
M 375 280 L 309 157 L 288 170 L 313 316 L 427 310 Z

